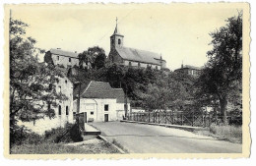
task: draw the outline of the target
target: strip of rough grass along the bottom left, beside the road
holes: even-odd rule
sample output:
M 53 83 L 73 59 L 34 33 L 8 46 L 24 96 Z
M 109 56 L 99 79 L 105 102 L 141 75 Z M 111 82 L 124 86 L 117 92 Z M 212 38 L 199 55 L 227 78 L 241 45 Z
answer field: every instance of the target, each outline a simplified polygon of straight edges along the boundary
M 11 154 L 98 154 L 118 153 L 118 151 L 105 141 L 84 144 L 81 146 L 64 145 L 64 143 L 42 142 L 39 144 L 14 145 Z

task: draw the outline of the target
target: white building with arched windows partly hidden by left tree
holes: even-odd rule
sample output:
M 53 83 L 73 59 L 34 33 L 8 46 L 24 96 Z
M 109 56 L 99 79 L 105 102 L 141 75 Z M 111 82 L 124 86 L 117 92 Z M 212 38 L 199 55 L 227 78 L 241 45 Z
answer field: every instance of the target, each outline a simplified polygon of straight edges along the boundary
M 33 122 L 18 122 L 18 125 L 24 125 L 28 129 L 32 130 L 39 135 L 42 135 L 45 131 L 51 130 L 52 128 L 64 127 L 67 123 L 74 123 L 73 120 L 73 83 L 67 77 L 58 77 L 58 83 L 56 85 L 56 91 L 61 92 L 67 96 L 67 100 L 57 101 L 57 106 L 53 107 L 47 105 L 55 111 L 55 117 L 49 119 L 44 117 L 43 119 L 36 120 Z

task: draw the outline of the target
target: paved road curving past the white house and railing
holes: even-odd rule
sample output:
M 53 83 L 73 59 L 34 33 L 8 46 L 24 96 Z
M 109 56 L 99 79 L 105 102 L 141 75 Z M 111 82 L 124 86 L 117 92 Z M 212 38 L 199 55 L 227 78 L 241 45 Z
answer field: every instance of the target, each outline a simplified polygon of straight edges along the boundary
M 115 139 L 130 153 L 241 153 L 242 145 L 160 126 L 92 123 L 109 141 Z

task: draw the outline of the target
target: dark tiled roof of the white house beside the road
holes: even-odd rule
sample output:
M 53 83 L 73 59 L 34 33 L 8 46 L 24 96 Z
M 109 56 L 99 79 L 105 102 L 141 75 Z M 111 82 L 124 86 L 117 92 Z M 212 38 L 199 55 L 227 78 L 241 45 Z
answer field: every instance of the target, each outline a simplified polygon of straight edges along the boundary
M 75 88 L 74 94 L 79 93 L 79 86 Z M 124 92 L 122 88 L 112 88 L 109 83 L 91 81 L 81 84 L 81 98 L 116 98 L 117 103 L 124 103 Z

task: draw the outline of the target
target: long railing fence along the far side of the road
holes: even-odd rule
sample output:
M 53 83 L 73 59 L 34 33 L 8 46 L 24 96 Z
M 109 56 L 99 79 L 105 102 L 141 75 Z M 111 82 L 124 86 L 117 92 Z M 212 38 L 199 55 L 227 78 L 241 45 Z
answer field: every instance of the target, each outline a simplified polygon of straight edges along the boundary
M 227 117 L 229 119 L 230 117 Z M 130 121 L 171 124 L 192 127 L 209 127 L 211 124 L 221 123 L 221 116 L 209 113 L 184 113 L 184 112 L 143 112 L 130 113 L 127 116 Z

